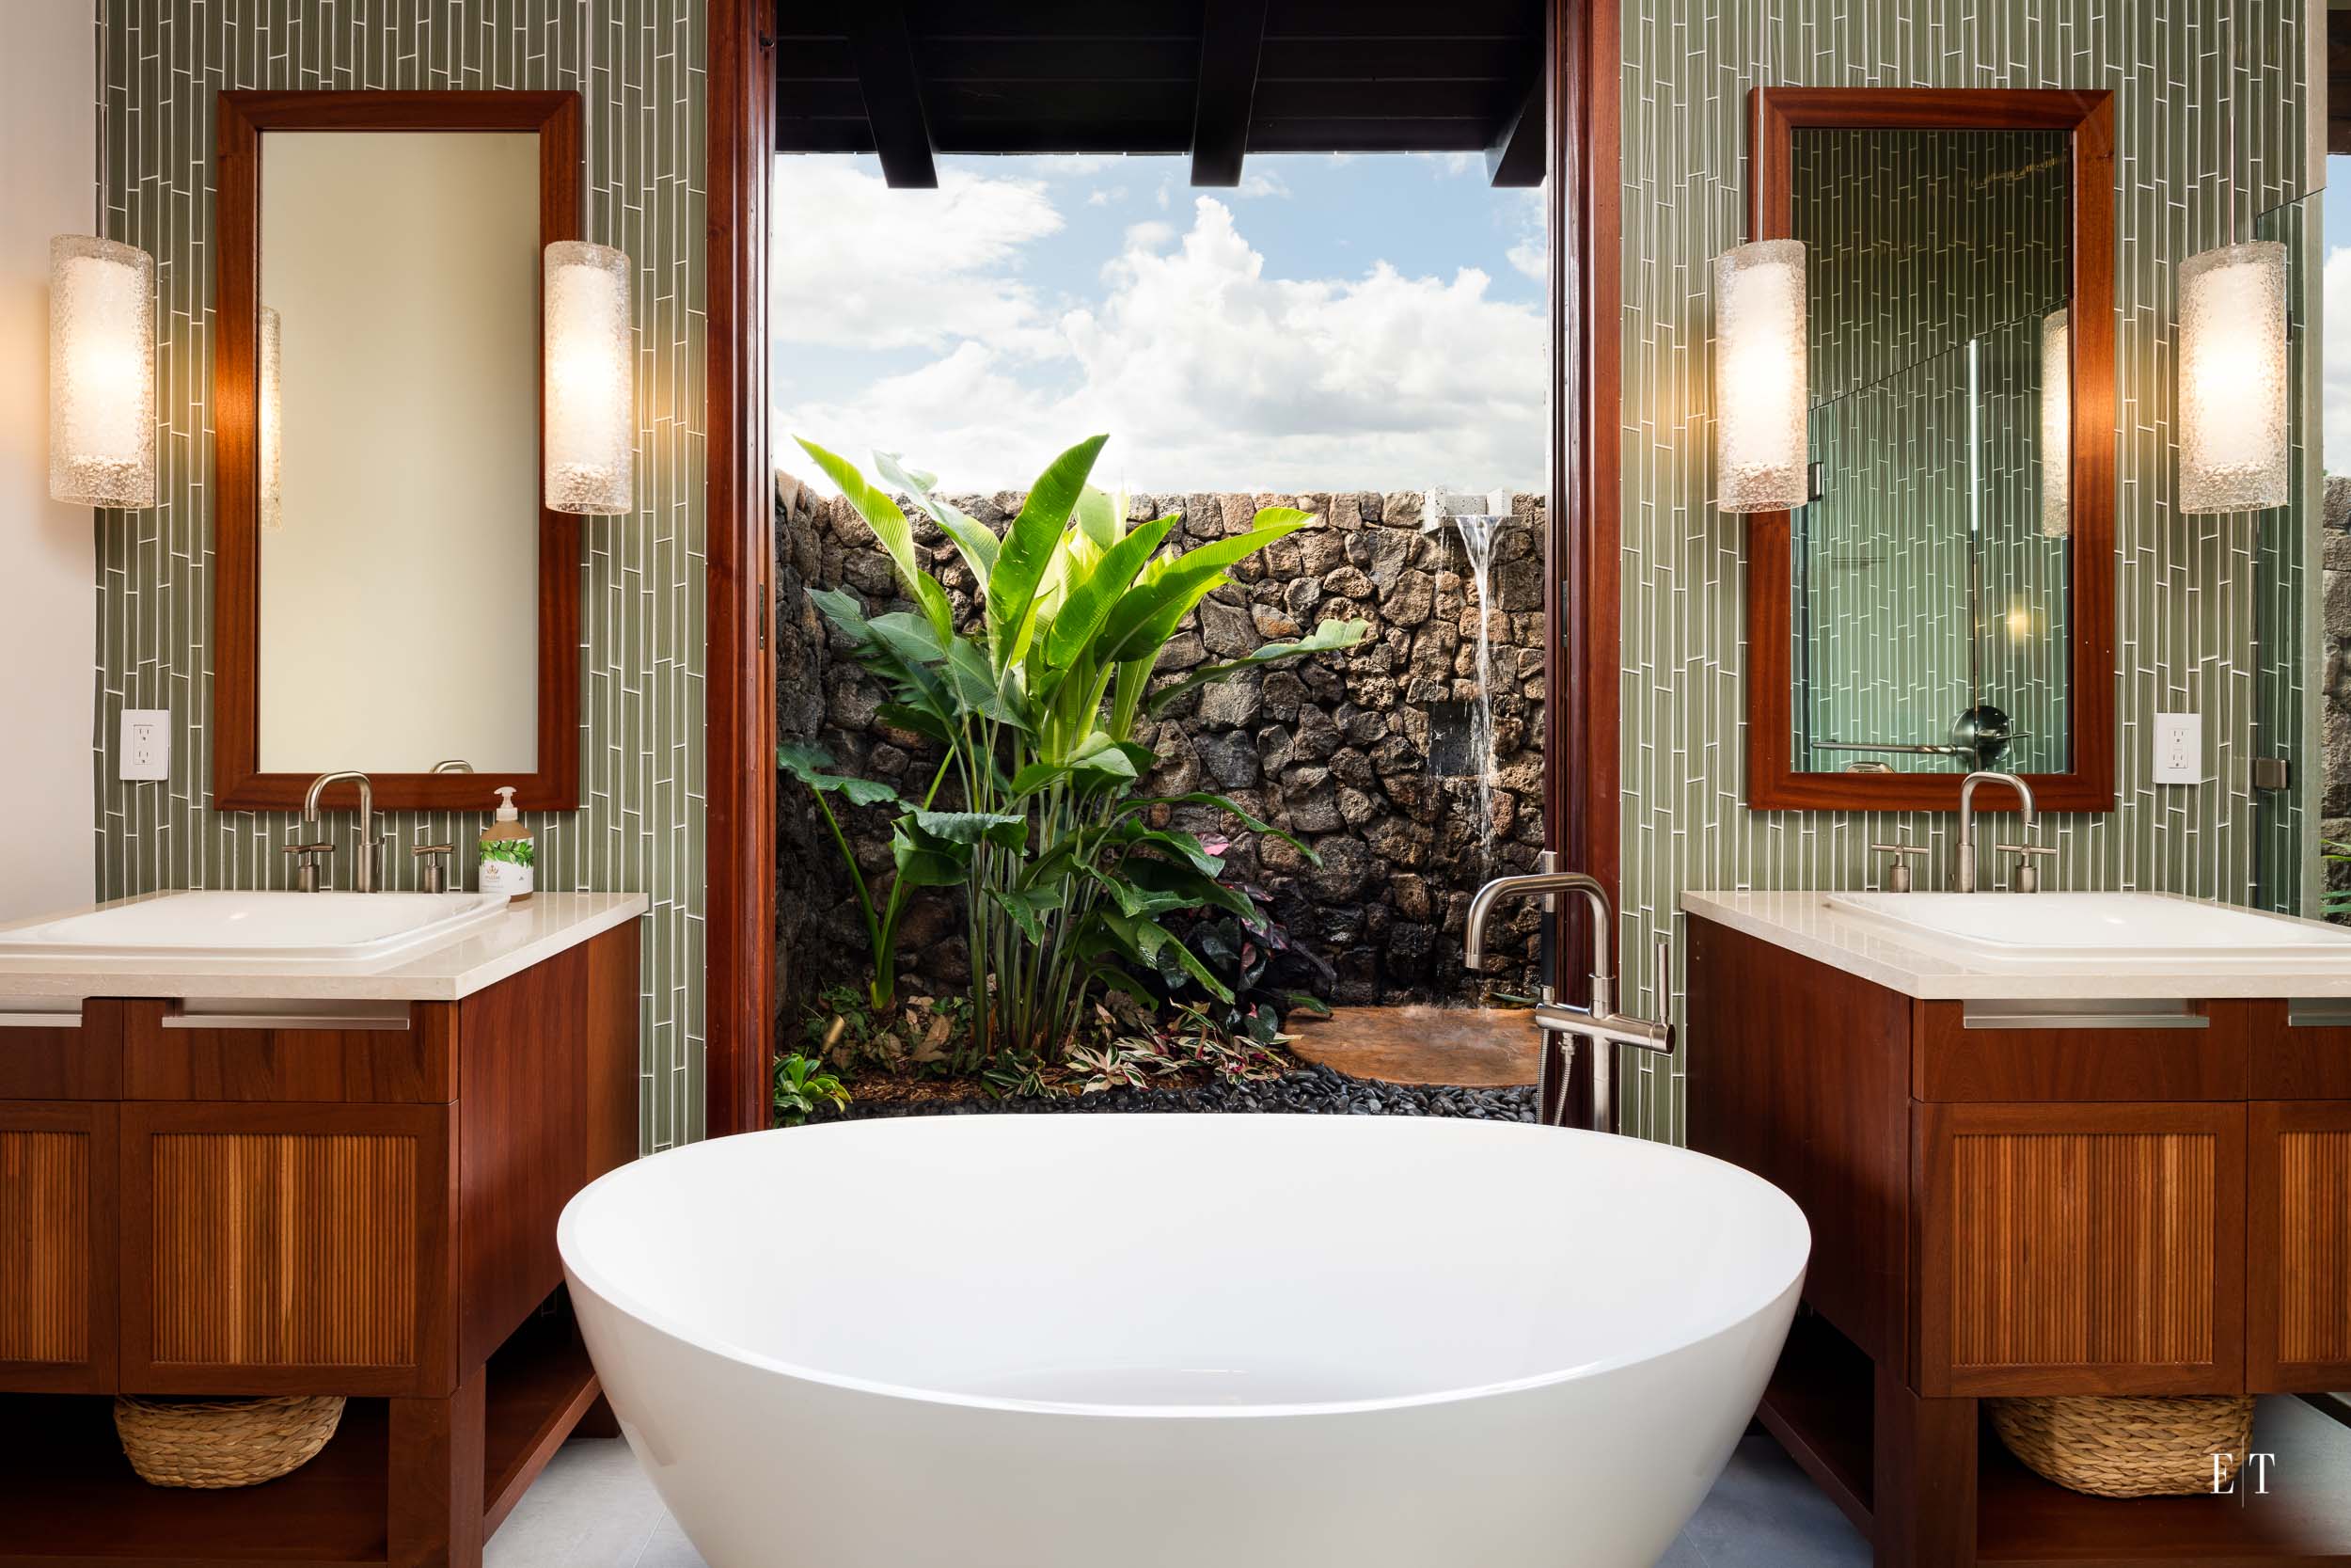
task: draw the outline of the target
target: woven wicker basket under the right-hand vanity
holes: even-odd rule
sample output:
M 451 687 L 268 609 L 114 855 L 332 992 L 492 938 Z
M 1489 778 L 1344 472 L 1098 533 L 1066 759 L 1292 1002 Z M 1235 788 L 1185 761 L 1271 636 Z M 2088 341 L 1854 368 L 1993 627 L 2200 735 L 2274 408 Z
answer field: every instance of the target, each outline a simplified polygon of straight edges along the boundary
M 2008 1453 L 2045 1481 L 2092 1497 L 2210 1493 L 2236 1476 L 2252 1443 L 2250 1394 L 1989 1403 Z M 2226 1455 L 2219 1474 L 2215 1455 Z

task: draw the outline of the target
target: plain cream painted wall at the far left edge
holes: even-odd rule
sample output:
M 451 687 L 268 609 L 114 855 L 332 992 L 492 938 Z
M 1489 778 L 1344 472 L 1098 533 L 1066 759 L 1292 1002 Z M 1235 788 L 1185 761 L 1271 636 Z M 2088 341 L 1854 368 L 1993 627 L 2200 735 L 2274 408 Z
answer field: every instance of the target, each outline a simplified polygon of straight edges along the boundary
M 49 501 L 49 235 L 96 233 L 94 82 L 87 0 L 9 0 L 0 42 L 0 745 L 9 757 L 0 769 L 0 919 L 85 905 L 96 886 L 92 510 Z

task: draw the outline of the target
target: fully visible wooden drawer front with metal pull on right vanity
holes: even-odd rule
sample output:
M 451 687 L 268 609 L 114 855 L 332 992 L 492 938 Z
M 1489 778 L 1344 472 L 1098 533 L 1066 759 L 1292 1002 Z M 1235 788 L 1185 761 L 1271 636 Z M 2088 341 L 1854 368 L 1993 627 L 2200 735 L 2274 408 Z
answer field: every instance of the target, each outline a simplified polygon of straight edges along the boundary
M 1977 1103 L 2243 1100 L 2248 1001 L 1921 1001 L 1911 1093 Z

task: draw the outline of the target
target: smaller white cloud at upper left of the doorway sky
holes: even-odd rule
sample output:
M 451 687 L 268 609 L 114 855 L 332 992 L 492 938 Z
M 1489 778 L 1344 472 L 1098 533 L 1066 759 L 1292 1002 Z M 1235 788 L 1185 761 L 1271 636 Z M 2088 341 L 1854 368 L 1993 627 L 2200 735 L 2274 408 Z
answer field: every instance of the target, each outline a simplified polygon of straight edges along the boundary
M 1041 181 L 940 169 L 891 190 L 842 158 L 778 158 L 769 310 L 778 339 L 936 348 L 980 339 L 1051 353 L 1020 252 L 1063 228 Z

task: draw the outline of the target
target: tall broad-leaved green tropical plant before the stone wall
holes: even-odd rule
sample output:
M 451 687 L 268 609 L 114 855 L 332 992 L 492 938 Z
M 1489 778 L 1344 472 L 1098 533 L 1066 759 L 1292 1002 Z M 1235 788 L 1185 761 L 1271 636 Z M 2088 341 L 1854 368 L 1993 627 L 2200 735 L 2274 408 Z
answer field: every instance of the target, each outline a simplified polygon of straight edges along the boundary
M 1152 1004 L 1133 969 L 1152 969 L 1161 954 L 1211 997 L 1230 999 L 1230 987 L 1161 922 L 1199 907 L 1248 917 L 1253 907 L 1218 882 L 1223 858 L 1190 832 L 1154 827 L 1152 811 L 1201 804 L 1232 813 L 1251 832 L 1274 827 L 1220 795 L 1143 795 L 1140 780 L 1157 757 L 1136 741 L 1136 724 L 1192 686 L 1345 649 L 1368 630 L 1364 621 L 1324 621 L 1298 642 L 1206 663 L 1154 689 L 1161 649 L 1230 581 L 1227 569 L 1307 527 L 1312 515 L 1265 508 L 1246 534 L 1164 555 L 1176 517 L 1128 527 L 1124 501 L 1086 482 L 1103 442 L 1096 435 L 1060 454 L 1002 538 L 936 496 L 931 475 L 877 454 L 882 480 L 912 496 L 971 569 L 980 592 L 971 632 L 957 630 L 947 590 L 917 562 L 915 529 L 898 503 L 846 458 L 802 442 L 872 529 L 915 602 L 915 611 L 868 616 L 853 592 L 809 595 L 851 658 L 889 691 L 879 717 L 945 748 L 931 792 L 922 804 L 903 802 L 891 827 L 898 867 L 891 898 L 865 903 L 875 912 L 868 933 L 879 985 L 879 971 L 893 961 L 884 945 L 891 907 L 903 907 L 900 889 L 964 889 L 973 980 L 971 1037 L 957 1067 L 999 1051 L 1060 1060 L 1089 990 L 1119 987 Z M 936 809 L 947 776 L 957 811 Z M 846 792 L 846 785 L 811 788 L 818 799 Z

